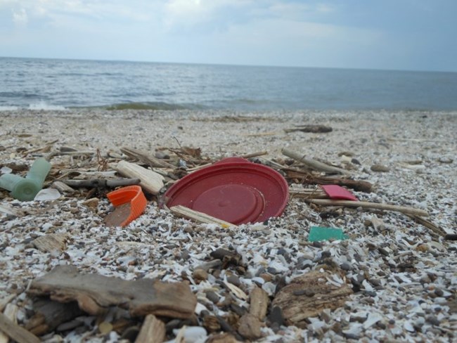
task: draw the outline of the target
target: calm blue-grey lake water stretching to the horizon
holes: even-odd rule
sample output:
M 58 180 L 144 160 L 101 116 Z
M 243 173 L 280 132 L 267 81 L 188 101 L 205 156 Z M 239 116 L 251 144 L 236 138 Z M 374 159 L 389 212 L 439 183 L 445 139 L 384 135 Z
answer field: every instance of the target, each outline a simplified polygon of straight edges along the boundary
M 0 110 L 457 110 L 456 72 L 0 58 Z

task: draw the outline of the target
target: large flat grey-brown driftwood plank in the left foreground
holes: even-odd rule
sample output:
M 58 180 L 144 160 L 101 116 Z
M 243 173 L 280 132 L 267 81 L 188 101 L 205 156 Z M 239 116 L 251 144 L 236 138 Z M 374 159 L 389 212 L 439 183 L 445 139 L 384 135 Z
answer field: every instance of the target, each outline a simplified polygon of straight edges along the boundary
M 131 316 L 155 314 L 172 318 L 192 316 L 197 298 L 187 283 L 163 283 L 142 278 L 122 280 L 81 274 L 75 266 L 56 266 L 32 281 L 31 295 L 49 295 L 58 302 L 77 301 L 83 311 L 97 315 L 109 306 L 128 309 Z

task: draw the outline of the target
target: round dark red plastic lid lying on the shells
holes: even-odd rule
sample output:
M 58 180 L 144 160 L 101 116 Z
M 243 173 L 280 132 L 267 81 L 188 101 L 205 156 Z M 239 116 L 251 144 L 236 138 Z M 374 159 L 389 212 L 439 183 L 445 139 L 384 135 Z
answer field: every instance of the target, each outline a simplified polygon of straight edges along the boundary
M 230 157 L 184 176 L 167 193 L 167 206 L 183 205 L 232 224 L 281 216 L 289 187 L 276 170 Z

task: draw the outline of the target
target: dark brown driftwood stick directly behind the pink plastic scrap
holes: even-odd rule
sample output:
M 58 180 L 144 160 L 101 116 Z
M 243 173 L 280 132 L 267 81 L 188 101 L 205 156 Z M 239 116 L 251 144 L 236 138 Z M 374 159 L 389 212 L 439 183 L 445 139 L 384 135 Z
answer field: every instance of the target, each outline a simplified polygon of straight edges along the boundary
M 353 190 L 371 193 L 373 186 L 368 181 L 358 181 L 350 179 L 341 179 L 328 176 L 314 176 L 306 171 L 300 171 L 296 169 L 285 168 L 283 169 L 285 174 L 290 179 L 299 179 L 301 183 L 309 185 L 338 185 L 352 188 Z

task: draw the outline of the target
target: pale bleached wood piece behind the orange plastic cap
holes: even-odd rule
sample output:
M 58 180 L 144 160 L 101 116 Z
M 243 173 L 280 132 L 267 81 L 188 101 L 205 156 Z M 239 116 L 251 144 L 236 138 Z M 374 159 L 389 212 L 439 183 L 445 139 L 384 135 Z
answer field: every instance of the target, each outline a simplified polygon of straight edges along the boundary
M 123 176 L 131 179 L 140 179 L 141 188 L 148 193 L 157 195 L 163 187 L 163 176 L 157 174 L 155 171 L 143 168 L 138 164 L 130 163 L 127 161 L 120 161 L 113 168 L 120 172 Z

